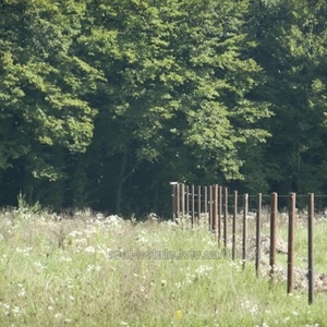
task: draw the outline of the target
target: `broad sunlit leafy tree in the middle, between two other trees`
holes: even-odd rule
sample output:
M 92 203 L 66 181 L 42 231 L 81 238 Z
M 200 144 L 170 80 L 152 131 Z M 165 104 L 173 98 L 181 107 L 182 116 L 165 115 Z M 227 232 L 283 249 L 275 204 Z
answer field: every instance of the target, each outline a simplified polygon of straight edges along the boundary
M 97 194 L 116 190 L 117 211 L 142 165 L 169 167 L 157 173 L 167 185 L 242 178 L 241 149 L 265 141 L 257 122 L 269 117 L 251 94 L 263 75 L 243 56 L 245 10 L 232 1 L 87 2 L 80 53 L 107 78 L 90 100 L 98 117 L 89 152 Z

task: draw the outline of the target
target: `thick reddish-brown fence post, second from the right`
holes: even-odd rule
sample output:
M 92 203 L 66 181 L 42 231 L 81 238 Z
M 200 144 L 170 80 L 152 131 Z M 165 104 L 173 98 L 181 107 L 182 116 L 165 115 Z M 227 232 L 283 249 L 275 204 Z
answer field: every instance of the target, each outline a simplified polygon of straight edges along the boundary
M 288 238 L 288 294 L 294 290 L 294 230 L 296 194 L 289 195 L 289 238 Z

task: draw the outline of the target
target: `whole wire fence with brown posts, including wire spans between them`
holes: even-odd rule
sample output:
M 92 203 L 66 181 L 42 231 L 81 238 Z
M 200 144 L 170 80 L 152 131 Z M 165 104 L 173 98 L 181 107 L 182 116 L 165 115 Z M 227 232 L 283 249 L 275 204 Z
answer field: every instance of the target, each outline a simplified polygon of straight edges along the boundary
M 272 287 L 276 276 L 277 257 L 277 219 L 282 217 L 288 228 L 287 242 L 287 293 L 294 291 L 294 231 L 295 217 L 299 215 L 298 205 L 301 205 L 302 217 L 307 223 L 307 292 L 308 304 L 314 300 L 314 269 L 313 269 L 313 220 L 315 217 L 315 201 L 327 201 L 327 195 L 313 193 L 287 195 L 267 194 L 239 194 L 238 191 L 229 192 L 227 187 L 218 184 L 209 186 L 185 185 L 184 183 L 171 183 L 172 218 L 191 219 L 192 227 L 202 219 L 207 220 L 208 229 L 214 233 L 219 246 L 231 254 L 231 259 L 237 256 L 237 231 L 241 231 L 242 238 L 242 264 L 246 264 L 249 246 L 249 219 L 252 218 L 255 230 L 255 271 L 259 276 L 262 255 L 262 226 L 265 219 L 269 225 L 269 283 Z M 319 204 L 320 205 L 320 204 Z M 280 215 L 280 214 L 283 215 Z M 326 213 L 327 214 L 327 213 Z M 320 215 L 325 215 L 323 211 Z M 241 221 L 240 221 L 241 217 Z M 229 240 L 231 239 L 231 242 Z M 228 251 L 229 249 L 231 251 Z M 252 249 L 253 251 L 253 249 Z

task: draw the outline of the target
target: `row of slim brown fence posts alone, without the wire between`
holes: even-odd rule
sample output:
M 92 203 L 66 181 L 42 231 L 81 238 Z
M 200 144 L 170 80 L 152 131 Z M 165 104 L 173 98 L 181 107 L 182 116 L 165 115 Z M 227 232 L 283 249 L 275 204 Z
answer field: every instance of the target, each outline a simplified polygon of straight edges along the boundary
M 172 218 L 179 219 L 187 217 L 191 213 L 192 226 L 201 219 L 204 214 L 207 217 L 209 231 L 215 234 L 215 240 L 220 246 L 221 237 L 223 249 L 228 246 L 228 189 L 218 184 L 210 186 L 190 186 L 183 183 L 171 182 L 171 207 Z M 191 196 L 191 201 L 190 201 Z M 231 258 L 237 257 L 237 219 L 238 219 L 238 191 L 233 191 L 233 215 L 232 215 L 232 251 Z M 263 195 L 256 196 L 256 219 L 255 219 L 255 272 L 259 276 L 261 262 L 261 233 L 262 233 L 262 206 Z M 313 267 L 313 222 L 314 222 L 314 193 L 307 196 L 307 282 L 308 282 L 308 304 L 314 300 L 314 267 Z M 296 194 L 289 193 L 288 199 L 288 261 L 287 261 L 287 293 L 294 290 L 294 234 L 295 234 L 295 210 Z M 247 213 L 249 194 L 243 195 L 243 228 L 242 228 L 242 265 L 245 268 L 246 244 L 247 244 Z M 278 214 L 278 194 L 270 194 L 270 247 L 269 247 L 269 277 L 270 287 L 274 286 L 276 272 L 277 255 L 277 214 Z M 222 228 L 222 230 L 221 230 Z

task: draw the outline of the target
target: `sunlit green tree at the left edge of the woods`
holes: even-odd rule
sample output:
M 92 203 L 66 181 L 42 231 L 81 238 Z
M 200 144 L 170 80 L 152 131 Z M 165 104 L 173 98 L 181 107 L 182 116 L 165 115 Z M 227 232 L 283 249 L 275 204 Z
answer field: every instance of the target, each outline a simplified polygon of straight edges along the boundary
M 0 169 L 21 166 L 22 189 L 52 185 L 93 135 L 96 111 L 85 96 L 101 76 L 70 52 L 83 5 L 7 0 L 0 11 Z

